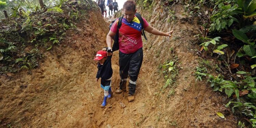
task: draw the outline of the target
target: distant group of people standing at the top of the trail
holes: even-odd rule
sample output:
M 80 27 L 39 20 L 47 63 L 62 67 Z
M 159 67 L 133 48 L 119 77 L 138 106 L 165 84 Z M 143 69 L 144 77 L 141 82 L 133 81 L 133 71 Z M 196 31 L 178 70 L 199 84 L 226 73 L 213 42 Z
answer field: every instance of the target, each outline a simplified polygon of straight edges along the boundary
M 111 15 L 113 15 L 113 7 L 114 7 L 114 13 L 115 11 L 118 11 L 119 7 L 118 7 L 118 3 L 113 2 L 113 0 L 107 0 L 106 6 L 105 6 L 105 0 L 98 0 L 98 6 L 100 7 L 101 10 L 101 14 L 104 17 L 104 13 L 105 13 L 105 17 L 106 17 L 106 6 L 109 7 L 109 15 L 110 15 L 110 11 L 111 11 Z

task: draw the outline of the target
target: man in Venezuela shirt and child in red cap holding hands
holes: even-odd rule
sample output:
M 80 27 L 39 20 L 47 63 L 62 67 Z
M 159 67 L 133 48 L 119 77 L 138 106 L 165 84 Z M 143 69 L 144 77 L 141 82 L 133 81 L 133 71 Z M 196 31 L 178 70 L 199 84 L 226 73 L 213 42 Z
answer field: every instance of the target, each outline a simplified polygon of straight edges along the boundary
M 101 104 L 105 107 L 106 100 L 113 96 L 111 79 L 113 70 L 111 67 L 111 57 L 113 51 L 119 49 L 119 75 L 120 83 L 116 94 L 126 92 L 128 82 L 127 99 L 134 101 L 134 94 L 137 86 L 137 79 L 143 60 L 142 33 L 144 30 L 155 34 L 171 37 L 173 30 L 162 32 L 149 25 L 136 9 L 136 3 L 128 0 L 123 5 L 124 16 L 117 18 L 106 37 L 106 48 L 97 52 L 94 60 L 98 61 L 98 72 L 96 82 L 101 78 L 100 86 L 104 90 L 104 98 Z M 114 44 L 112 47 L 112 41 Z M 146 38 L 145 38 L 146 39 Z M 117 43 L 117 45 L 115 45 Z M 128 80 L 129 76 L 129 80 Z M 147 83 L 143 83 L 147 84 Z

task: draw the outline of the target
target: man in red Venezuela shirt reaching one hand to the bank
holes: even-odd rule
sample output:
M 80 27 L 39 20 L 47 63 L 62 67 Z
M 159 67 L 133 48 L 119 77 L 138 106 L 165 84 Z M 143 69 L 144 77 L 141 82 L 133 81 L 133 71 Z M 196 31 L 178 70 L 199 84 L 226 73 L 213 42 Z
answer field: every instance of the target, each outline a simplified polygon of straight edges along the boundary
M 120 85 L 119 89 L 116 90 L 116 94 L 120 94 L 126 91 L 126 83 L 129 75 L 129 92 L 128 101 L 134 100 L 134 93 L 136 89 L 136 83 L 138 79 L 138 74 L 143 60 L 143 50 L 142 50 L 142 26 L 135 16 L 136 3 L 132 0 L 126 1 L 123 6 L 124 17 L 122 18 L 122 25 L 120 29 L 117 28 L 118 18 L 112 25 L 107 37 L 106 44 L 109 48 L 112 46 L 112 39 L 119 30 L 118 42 L 119 42 L 119 75 L 120 75 Z M 171 37 L 173 30 L 170 32 L 161 32 L 156 28 L 150 26 L 147 21 L 143 18 L 144 30 L 155 35 L 163 35 Z M 147 84 L 147 83 L 145 83 Z

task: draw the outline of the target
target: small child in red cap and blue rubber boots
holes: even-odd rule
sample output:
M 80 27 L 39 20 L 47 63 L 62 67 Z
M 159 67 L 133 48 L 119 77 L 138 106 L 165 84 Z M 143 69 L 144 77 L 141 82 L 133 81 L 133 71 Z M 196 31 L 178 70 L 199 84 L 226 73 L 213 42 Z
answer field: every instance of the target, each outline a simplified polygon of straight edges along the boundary
M 111 50 L 109 49 L 108 52 L 110 51 Z M 111 66 L 112 54 L 109 54 L 108 56 L 108 52 L 106 48 L 103 48 L 102 50 L 97 52 L 97 55 L 94 58 L 94 60 L 98 61 L 98 72 L 95 82 L 98 82 L 98 80 L 101 78 L 100 87 L 104 90 L 104 98 L 101 107 L 105 107 L 106 100 L 110 99 L 113 95 L 111 90 L 111 79 L 113 74 Z

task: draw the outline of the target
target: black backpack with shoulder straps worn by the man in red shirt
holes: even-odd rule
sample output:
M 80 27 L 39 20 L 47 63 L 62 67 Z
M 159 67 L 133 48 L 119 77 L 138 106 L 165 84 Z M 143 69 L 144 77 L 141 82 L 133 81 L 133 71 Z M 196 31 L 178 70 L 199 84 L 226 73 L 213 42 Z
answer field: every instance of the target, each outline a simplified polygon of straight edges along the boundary
M 144 38 L 145 38 L 145 40 L 147 40 L 147 37 L 146 37 L 146 35 L 145 35 L 145 33 L 144 33 L 144 21 L 143 21 L 141 15 L 140 15 L 139 13 L 135 13 L 135 16 L 140 20 L 140 24 L 141 24 L 141 26 L 142 26 L 141 35 L 143 35 Z M 115 34 L 115 36 L 114 36 L 114 39 L 113 39 L 113 40 L 114 40 L 114 44 L 113 44 L 113 47 L 112 47 L 112 51 L 113 51 L 113 52 L 114 52 L 114 51 L 117 51 L 117 50 L 119 49 L 119 43 L 118 43 L 118 38 L 119 38 L 119 36 L 118 36 L 118 33 L 119 33 L 120 27 L 122 26 L 123 17 L 124 17 L 124 16 L 118 17 L 117 32 L 116 32 L 116 34 Z M 112 27 L 112 25 L 114 24 L 114 22 L 115 22 L 115 20 L 113 20 L 113 21 L 110 23 L 110 25 L 109 25 L 109 30 L 111 29 L 111 27 Z

